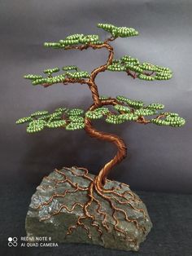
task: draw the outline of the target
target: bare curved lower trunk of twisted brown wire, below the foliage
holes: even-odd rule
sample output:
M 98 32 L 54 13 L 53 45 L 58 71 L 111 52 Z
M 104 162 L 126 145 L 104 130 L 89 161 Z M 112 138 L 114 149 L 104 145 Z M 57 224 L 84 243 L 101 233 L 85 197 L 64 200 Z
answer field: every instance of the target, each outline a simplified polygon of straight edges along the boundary
M 99 171 L 97 178 L 95 179 L 95 183 L 98 188 L 103 189 L 107 175 L 110 173 L 111 169 L 119 164 L 124 159 L 124 157 L 126 157 L 127 148 L 124 141 L 119 136 L 96 130 L 88 118 L 85 118 L 85 132 L 92 138 L 114 143 L 117 147 L 116 156 L 111 159 L 111 161 L 108 161 L 105 166 L 103 166 L 103 168 Z

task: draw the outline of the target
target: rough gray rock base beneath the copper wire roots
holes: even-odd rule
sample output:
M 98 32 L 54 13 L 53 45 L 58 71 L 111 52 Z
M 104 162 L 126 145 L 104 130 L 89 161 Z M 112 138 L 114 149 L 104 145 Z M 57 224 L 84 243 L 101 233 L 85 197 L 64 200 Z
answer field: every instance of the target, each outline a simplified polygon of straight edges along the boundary
M 94 177 L 85 175 L 85 170 L 78 167 L 55 170 L 45 177 L 29 205 L 25 222 L 27 236 L 50 236 L 51 242 L 137 251 L 152 227 L 146 205 L 128 185 L 108 179 L 104 188 L 116 189 L 116 193 L 103 195 L 111 197 L 111 204 L 95 190 L 91 201 L 87 188 Z M 120 197 L 123 193 L 124 197 Z M 83 205 L 88 201 L 85 218 Z M 80 218 L 79 225 L 76 225 L 77 218 Z

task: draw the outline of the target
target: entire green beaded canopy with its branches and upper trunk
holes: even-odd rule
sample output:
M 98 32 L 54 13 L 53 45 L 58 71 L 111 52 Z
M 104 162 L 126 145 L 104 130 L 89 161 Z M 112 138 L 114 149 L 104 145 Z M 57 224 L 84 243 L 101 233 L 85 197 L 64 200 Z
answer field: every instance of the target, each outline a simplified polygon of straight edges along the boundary
M 109 42 L 116 38 L 129 38 L 137 36 L 137 30 L 127 27 L 116 27 L 113 24 L 98 24 L 99 29 L 111 33 L 111 37 L 102 41 L 98 35 L 85 35 L 76 33 L 59 40 L 59 42 L 45 42 L 44 46 L 61 48 L 64 50 L 86 50 L 91 47 L 94 50 L 107 48 L 110 55 L 107 64 L 95 68 L 91 73 L 81 70 L 76 65 L 67 65 L 62 68 L 46 68 L 43 75 L 28 74 L 24 78 L 32 81 L 34 86 L 51 86 L 56 83 L 84 83 L 89 86 L 93 99 L 98 97 L 98 106 L 84 111 L 80 108 L 57 108 L 53 113 L 38 111 L 29 117 L 20 118 L 17 124 L 28 123 L 27 132 L 33 133 L 44 128 L 65 128 L 66 130 L 81 130 L 85 128 L 85 119 L 96 120 L 104 118 L 109 124 L 121 124 L 124 121 L 136 121 L 140 123 L 154 123 L 159 126 L 179 127 L 185 124 L 185 120 L 177 113 L 162 112 L 163 104 L 152 103 L 145 105 L 142 100 L 128 99 L 125 96 L 117 96 L 112 99 L 108 96 L 98 95 L 98 89 L 94 82 L 96 74 L 103 71 L 125 72 L 130 77 L 145 81 L 168 80 L 172 77 L 169 68 L 157 64 L 140 62 L 136 58 L 124 55 L 120 59 L 114 58 L 113 48 Z M 94 102 L 95 104 L 95 102 Z M 112 105 L 111 111 L 108 106 Z M 146 119 L 150 117 L 150 119 Z

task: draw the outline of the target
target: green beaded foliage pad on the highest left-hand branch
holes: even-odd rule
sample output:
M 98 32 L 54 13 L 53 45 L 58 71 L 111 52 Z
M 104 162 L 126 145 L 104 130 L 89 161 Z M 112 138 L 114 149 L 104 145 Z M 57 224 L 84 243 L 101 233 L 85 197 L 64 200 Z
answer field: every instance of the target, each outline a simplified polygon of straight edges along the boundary
M 52 47 L 52 48 L 63 48 L 68 49 L 68 46 L 76 46 L 76 45 L 86 45 L 86 44 L 102 44 L 98 38 L 98 35 L 84 35 L 82 33 L 75 33 L 63 40 L 59 40 L 59 42 L 45 42 L 44 46 Z

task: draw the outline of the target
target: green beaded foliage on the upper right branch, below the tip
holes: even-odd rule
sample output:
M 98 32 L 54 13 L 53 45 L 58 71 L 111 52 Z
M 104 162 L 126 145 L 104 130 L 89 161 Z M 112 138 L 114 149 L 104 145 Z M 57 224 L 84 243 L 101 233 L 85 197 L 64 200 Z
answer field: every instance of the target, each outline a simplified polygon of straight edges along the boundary
M 124 55 L 120 60 L 113 60 L 112 64 L 107 67 L 109 71 L 133 72 L 135 77 L 146 81 L 168 80 L 172 77 L 172 71 L 169 68 L 158 65 L 142 63 L 135 58 Z

